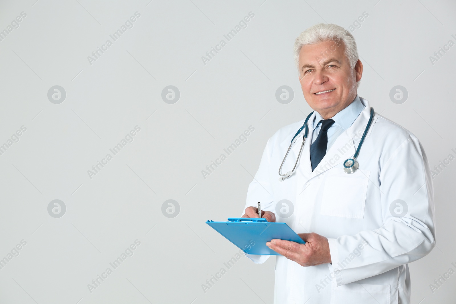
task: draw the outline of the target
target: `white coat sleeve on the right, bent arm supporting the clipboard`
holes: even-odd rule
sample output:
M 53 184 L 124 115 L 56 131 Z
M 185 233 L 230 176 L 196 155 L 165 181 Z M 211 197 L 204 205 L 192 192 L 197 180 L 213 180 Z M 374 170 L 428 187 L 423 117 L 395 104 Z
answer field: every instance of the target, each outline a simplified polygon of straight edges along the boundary
M 418 139 L 406 139 L 388 160 L 380 159 L 379 165 L 383 225 L 328 239 L 332 259 L 328 265 L 337 286 L 423 258 L 435 246 L 433 185 Z M 408 212 L 403 215 L 405 208 Z

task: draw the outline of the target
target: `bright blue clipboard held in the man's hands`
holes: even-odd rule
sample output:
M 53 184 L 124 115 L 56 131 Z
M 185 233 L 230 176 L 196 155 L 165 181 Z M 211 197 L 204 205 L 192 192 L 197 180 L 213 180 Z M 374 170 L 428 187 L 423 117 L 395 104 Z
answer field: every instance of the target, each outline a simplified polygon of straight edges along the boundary
M 206 224 L 248 254 L 280 255 L 266 246 L 273 238 L 306 243 L 286 223 L 269 223 L 265 218 L 229 217 L 228 222 L 207 221 Z

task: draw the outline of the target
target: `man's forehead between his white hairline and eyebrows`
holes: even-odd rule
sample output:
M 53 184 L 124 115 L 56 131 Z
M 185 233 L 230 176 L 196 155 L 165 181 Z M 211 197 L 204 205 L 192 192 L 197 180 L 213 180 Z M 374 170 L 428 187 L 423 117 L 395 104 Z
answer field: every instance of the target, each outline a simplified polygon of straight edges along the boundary
M 344 45 L 342 42 L 323 41 L 316 44 L 302 46 L 299 53 L 300 66 L 316 64 L 328 58 L 336 58 L 340 62 L 345 61 Z

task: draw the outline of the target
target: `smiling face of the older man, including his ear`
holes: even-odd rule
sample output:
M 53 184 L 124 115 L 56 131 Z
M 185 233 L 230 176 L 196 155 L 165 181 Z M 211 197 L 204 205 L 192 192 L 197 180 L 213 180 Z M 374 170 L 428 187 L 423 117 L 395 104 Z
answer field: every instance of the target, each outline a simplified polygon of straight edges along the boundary
M 301 88 L 309 106 L 330 119 L 356 97 L 363 74 L 360 60 L 353 69 L 344 54 L 343 43 L 324 41 L 302 46 L 299 54 Z

